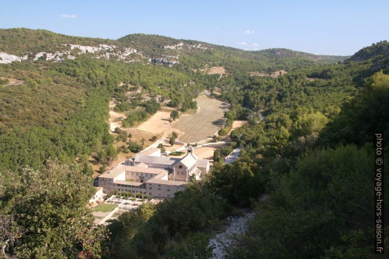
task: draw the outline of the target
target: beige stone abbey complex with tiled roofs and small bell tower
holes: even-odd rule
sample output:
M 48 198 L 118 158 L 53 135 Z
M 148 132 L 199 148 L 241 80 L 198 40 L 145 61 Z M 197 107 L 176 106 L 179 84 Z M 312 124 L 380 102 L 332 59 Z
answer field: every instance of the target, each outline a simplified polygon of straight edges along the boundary
M 105 193 L 129 192 L 133 195 L 172 198 L 192 179 L 209 171 L 209 161 L 198 159 L 192 146 L 183 158 L 161 157 L 159 148 L 126 159 L 98 177 Z

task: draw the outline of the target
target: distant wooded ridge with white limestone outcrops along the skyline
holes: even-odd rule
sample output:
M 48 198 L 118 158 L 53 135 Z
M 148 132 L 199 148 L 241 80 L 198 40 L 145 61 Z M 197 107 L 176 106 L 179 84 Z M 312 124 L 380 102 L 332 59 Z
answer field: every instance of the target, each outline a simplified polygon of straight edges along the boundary
M 5 63 L 20 60 L 63 61 L 79 56 L 122 62 L 155 63 L 185 69 L 223 66 L 227 71 L 293 69 L 314 64 L 334 64 L 341 56 L 324 56 L 289 49 L 245 51 L 192 40 L 131 34 L 118 40 L 73 37 L 47 30 L 0 29 L 0 52 Z M 8 55 L 8 56 L 7 56 Z M 11 55 L 11 56 L 9 56 Z

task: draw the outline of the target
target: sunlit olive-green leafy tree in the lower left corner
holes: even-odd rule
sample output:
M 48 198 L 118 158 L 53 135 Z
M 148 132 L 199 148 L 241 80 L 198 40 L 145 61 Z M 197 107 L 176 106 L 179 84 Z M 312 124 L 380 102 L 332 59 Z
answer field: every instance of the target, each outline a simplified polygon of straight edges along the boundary
M 1 172 L 6 184 L 0 193 L 7 212 L 21 227 L 18 242 L 7 247 L 18 258 L 77 258 L 86 254 L 101 254 L 102 228 L 93 228 L 93 217 L 85 206 L 93 195 L 92 181 L 77 167 L 47 161 L 46 167 L 34 170 L 25 167 L 19 175 Z M 1 178 L 2 178 L 1 177 Z M 5 207 L 4 207 L 5 206 Z M 15 231 L 15 229 L 10 229 Z M 103 239 L 100 239 L 103 240 Z

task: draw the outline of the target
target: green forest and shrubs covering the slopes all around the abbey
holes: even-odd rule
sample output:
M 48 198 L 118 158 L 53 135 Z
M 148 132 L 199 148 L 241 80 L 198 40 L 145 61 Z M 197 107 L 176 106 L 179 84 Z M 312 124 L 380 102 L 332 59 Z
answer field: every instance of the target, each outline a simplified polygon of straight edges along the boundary
M 42 30 L 0 34 L 0 51 L 15 55 L 74 43 Z M 15 40 L 20 38 L 25 46 Z M 126 42 L 150 57 L 166 54 L 167 45 L 203 44 L 143 34 L 75 41 L 122 47 Z M 206 47 L 192 48 L 170 68 L 88 53 L 61 62 L 0 64 L 1 77 L 23 81 L 0 81 L 4 257 L 208 259 L 211 236 L 228 216 L 248 209 L 255 216 L 228 258 L 384 258 L 372 253 L 372 140 L 375 131 L 389 136 L 389 44 L 374 44 L 346 60 L 286 49 Z M 206 65 L 223 66 L 227 74 L 218 79 L 196 70 Z M 275 69 L 288 74 L 249 75 Z M 106 123 L 110 98 L 122 98 L 123 111 L 141 105 L 128 119 L 131 125 L 160 107 L 153 101 L 126 103 L 123 94 L 130 87 L 191 108 L 192 98 L 215 86 L 221 94 L 214 95 L 231 104 L 227 122 L 248 121 L 231 133 L 232 145 L 243 146 L 240 158 L 215 163 L 205 179 L 189 183 L 173 199 L 142 205 L 108 227 L 93 226 L 85 206 L 93 194 L 87 161 L 93 154 L 113 156 Z

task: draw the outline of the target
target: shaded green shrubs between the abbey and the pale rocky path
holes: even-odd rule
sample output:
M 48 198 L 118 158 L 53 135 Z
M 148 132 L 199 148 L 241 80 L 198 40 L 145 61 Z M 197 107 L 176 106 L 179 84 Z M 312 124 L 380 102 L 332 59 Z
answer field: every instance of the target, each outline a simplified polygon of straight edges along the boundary
M 111 249 L 118 258 L 155 258 L 167 251 L 170 256 L 177 256 L 177 250 L 184 249 L 184 237 L 192 244 L 185 249 L 185 254 L 192 250 L 199 255 L 209 255 L 210 250 L 205 246 L 207 235 L 196 232 L 219 228 L 220 220 L 230 209 L 225 199 L 198 183 L 191 183 L 188 188 L 176 193 L 174 199 L 157 206 L 143 205 L 141 210 L 120 216 L 109 226 L 113 240 Z M 169 240 L 173 243 L 168 245 Z

